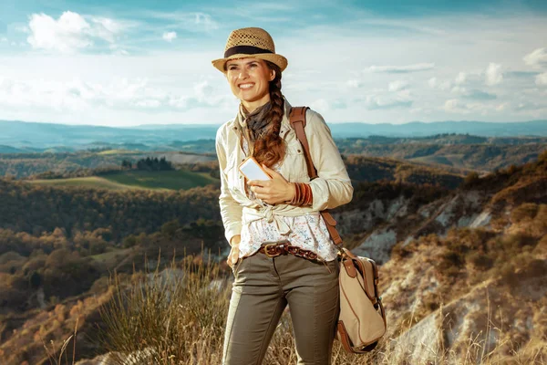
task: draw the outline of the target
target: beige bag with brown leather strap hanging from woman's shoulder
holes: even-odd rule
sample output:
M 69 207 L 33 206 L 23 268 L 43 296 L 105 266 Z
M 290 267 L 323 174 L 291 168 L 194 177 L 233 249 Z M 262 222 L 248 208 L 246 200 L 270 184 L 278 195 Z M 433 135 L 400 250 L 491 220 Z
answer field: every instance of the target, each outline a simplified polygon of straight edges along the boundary
M 317 177 L 310 146 L 305 136 L 305 111 L 292 108 L 289 114 L 296 137 L 304 147 L 310 179 Z M 378 269 L 370 258 L 353 255 L 342 248 L 342 238 L 336 230 L 336 221 L 328 211 L 322 211 L 331 238 L 340 248 L 340 316 L 336 339 L 347 352 L 364 353 L 377 346 L 378 339 L 386 333 L 386 312 L 378 295 Z

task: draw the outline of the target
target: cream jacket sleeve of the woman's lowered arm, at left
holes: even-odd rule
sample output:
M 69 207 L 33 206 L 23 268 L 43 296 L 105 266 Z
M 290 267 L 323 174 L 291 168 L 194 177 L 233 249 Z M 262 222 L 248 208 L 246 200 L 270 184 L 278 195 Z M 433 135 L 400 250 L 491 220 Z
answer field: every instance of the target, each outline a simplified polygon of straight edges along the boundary
M 226 169 L 226 139 L 223 136 L 222 126 L 216 134 L 215 147 L 217 158 L 219 159 L 219 169 L 221 175 L 221 195 L 219 196 L 219 204 L 221 207 L 222 224 L 224 225 L 224 235 L 231 243 L 234 235 L 241 235 L 242 232 L 242 214 L 243 206 L 237 203 L 230 193 L 228 180 L 224 170 Z

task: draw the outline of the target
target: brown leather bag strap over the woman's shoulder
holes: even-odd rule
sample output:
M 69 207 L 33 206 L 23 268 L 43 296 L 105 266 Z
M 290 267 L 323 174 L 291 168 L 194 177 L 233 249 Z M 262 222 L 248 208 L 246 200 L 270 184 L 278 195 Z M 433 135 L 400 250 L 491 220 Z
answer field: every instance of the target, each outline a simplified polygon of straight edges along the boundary
M 308 176 L 310 177 L 310 180 L 314 180 L 317 177 L 317 169 L 315 169 L 314 162 L 312 160 L 312 153 L 310 152 L 310 144 L 307 141 L 304 130 L 305 112 L 308 109 L 308 107 L 291 108 L 291 112 L 289 113 L 289 120 L 291 121 L 291 126 L 293 126 L 294 132 L 296 133 L 296 138 L 298 138 L 298 141 L 300 141 L 300 144 L 302 144 L 302 147 L 304 148 L 304 157 L 305 164 L 308 170 Z M 335 245 L 342 245 L 342 237 L 340 236 L 340 234 L 338 234 L 338 231 L 336 230 L 335 218 L 326 209 L 319 213 L 321 214 L 321 216 L 323 216 L 326 229 L 328 230 L 328 233 L 333 239 Z

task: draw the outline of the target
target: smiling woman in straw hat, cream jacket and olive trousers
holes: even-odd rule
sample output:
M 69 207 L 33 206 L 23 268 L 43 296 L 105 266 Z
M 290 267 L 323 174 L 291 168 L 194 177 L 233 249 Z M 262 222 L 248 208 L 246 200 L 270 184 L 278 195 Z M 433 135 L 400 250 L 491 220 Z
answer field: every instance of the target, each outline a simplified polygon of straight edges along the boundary
M 308 110 L 305 133 L 319 176 L 310 181 L 288 119 L 291 106 L 281 93 L 287 60 L 275 53 L 265 30 L 232 31 L 224 57 L 212 64 L 241 100 L 235 119 L 216 136 L 219 202 L 235 276 L 222 363 L 262 363 L 288 305 L 298 364 L 329 364 L 339 267 L 319 211 L 351 201 L 346 167 L 325 120 Z M 239 164 L 251 155 L 271 180 L 246 181 Z

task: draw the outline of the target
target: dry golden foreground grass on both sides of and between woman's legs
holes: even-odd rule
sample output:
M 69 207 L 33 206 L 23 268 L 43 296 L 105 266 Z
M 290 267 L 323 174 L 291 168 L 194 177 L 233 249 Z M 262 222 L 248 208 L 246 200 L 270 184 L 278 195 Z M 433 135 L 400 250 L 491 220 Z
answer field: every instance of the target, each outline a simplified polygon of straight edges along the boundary
M 101 332 L 101 339 L 109 351 L 102 364 L 221 363 L 223 326 L 231 286 L 218 263 L 203 256 L 186 256 L 179 263 L 173 261 L 165 270 L 158 266 L 153 273 L 135 274 L 130 283 L 122 283 L 117 277 L 115 282 L 114 298 L 101 310 L 107 325 Z M 445 349 L 442 339 L 430 344 L 402 340 L 404 332 L 416 323 L 409 318 L 407 328 L 400 328 L 397 334 L 391 333 L 377 349 L 366 355 L 346 354 L 335 341 L 333 364 L 545 365 L 544 340 L 514 348 L 511 340 L 503 336 L 501 328 L 494 326 L 490 302 L 484 309 L 488 313 L 484 332 L 471 336 L 465 349 Z M 442 310 L 441 305 L 440 318 L 443 318 Z M 437 322 L 438 333 L 442 333 L 443 320 Z M 492 343 L 487 339 L 496 340 Z M 413 358 L 417 346 L 427 355 L 424 360 Z M 263 363 L 286 365 L 295 362 L 291 320 L 285 313 Z

